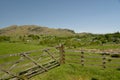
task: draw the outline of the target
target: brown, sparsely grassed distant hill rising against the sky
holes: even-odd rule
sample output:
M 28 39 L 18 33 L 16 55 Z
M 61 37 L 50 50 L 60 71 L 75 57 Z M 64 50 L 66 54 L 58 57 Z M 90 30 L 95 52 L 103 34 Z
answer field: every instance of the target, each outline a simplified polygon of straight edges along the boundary
M 0 29 L 0 35 L 16 36 L 16 35 L 55 35 L 55 36 L 73 36 L 75 32 L 70 29 L 54 29 L 37 25 L 12 25 Z

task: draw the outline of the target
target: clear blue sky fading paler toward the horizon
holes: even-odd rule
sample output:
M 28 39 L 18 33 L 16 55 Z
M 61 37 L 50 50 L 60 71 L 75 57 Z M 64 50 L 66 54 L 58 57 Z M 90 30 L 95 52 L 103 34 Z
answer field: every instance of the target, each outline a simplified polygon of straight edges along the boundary
M 0 28 L 10 25 L 117 32 L 120 0 L 0 0 Z

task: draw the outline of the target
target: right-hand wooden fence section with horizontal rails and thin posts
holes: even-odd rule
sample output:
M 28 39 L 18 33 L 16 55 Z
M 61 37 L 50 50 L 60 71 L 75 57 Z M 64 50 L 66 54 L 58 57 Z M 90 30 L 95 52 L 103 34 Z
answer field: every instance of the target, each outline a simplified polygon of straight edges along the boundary
M 116 53 L 119 54 L 119 53 Z M 120 58 L 111 57 L 109 52 L 87 52 L 84 50 L 66 50 L 62 56 L 62 62 L 66 64 L 77 63 L 86 67 L 101 67 L 120 69 Z

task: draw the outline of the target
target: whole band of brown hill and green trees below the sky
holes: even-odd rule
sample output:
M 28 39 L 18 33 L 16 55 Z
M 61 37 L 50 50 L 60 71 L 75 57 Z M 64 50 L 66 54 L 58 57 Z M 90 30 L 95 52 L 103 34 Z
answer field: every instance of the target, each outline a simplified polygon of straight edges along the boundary
M 75 33 L 69 29 L 54 29 L 36 25 L 12 25 L 0 29 L 0 41 L 28 42 L 39 45 L 55 46 L 59 43 L 69 48 L 90 45 L 119 44 L 120 33 L 92 34 Z

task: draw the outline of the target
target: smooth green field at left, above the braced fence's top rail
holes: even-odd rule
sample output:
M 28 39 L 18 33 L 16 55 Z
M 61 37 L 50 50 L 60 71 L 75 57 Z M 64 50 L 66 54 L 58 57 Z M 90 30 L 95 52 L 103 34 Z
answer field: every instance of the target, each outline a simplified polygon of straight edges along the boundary
M 0 55 L 20 53 L 41 48 L 45 48 L 45 46 L 24 43 L 0 42 Z

